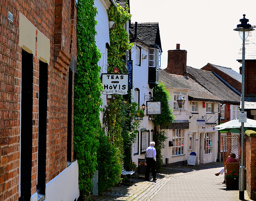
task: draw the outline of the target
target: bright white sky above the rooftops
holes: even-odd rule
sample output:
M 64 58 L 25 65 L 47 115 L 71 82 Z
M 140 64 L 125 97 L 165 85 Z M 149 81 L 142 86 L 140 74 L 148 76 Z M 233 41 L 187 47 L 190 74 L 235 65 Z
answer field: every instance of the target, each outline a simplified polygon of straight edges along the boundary
M 233 29 L 243 14 L 256 25 L 256 0 L 130 0 L 130 13 L 132 22 L 159 22 L 161 68 L 178 43 L 188 52 L 187 66 L 211 63 L 239 72 L 242 39 Z

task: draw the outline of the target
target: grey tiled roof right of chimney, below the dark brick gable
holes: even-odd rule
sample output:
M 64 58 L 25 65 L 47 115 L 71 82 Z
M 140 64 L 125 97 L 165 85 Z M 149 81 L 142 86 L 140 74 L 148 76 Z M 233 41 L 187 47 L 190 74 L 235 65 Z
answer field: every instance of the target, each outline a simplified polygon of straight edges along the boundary
M 200 85 L 223 101 L 240 103 L 240 95 L 214 73 L 187 66 L 188 74 Z

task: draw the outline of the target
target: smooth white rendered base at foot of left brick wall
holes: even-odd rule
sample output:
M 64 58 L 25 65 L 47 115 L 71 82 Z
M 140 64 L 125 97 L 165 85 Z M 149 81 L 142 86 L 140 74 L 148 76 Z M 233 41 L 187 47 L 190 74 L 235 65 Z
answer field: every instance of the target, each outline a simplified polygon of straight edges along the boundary
M 74 161 L 46 184 L 45 201 L 74 201 L 78 197 L 78 163 Z

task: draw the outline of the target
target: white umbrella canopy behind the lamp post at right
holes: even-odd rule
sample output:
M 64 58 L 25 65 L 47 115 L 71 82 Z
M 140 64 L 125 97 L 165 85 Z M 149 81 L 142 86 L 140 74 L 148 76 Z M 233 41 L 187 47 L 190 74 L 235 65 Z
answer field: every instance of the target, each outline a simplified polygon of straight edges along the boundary
M 226 123 L 222 123 L 220 125 L 214 126 L 216 131 L 226 131 L 230 133 L 240 133 L 241 129 L 241 122 L 239 122 L 239 119 L 233 119 L 231 121 L 228 121 Z M 246 123 L 244 123 L 244 131 L 246 130 L 255 130 L 256 131 L 256 120 L 253 119 L 246 119 Z

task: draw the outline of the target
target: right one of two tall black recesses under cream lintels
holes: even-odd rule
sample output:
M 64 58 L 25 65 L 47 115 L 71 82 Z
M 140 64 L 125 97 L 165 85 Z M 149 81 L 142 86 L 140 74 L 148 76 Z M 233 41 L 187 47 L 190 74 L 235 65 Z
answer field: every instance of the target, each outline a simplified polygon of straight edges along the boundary
M 48 64 L 39 61 L 38 196 L 45 195 Z

